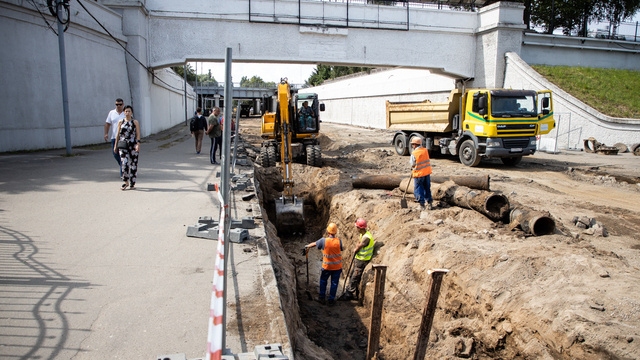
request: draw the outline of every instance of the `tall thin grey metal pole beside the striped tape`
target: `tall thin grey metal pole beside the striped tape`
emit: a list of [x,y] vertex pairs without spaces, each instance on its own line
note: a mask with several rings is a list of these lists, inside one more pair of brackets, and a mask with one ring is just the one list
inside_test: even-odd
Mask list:
[[229,140],[231,139],[231,124],[233,120],[231,120],[231,108],[229,104],[233,103],[233,92],[232,87],[233,83],[231,82],[231,48],[227,48],[227,53],[224,58],[225,65],[225,86],[224,86],[224,118],[226,121],[226,125],[224,127],[224,131],[222,132],[222,165],[220,169],[220,178],[222,185],[222,199],[224,200],[224,204],[229,209],[228,212],[225,212],[225,224],[224,224],[224,291],[223,291],[223,300],[222,302],[225,304],[225,311],[222,313],[222,352],[225,353],[227,349],[227,339],[226,339],[226,329],[227,329],[227,255],[229,254],[229,225],[231,225],[231,217],[229,213],[231,211],[231,206],[229,204],[229,155],[231,153],[231,145]]

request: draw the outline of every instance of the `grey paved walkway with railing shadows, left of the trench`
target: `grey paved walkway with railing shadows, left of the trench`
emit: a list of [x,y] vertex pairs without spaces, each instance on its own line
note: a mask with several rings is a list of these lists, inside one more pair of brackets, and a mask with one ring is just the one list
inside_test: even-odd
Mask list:
[[[218,217],[209,145],[196,155],[184,125],[143,139],[127,191],[108,144],[0,155],[0,358],[205,355],[217,241],[186,229]],[[231,199],[232,218],[253,215]],[[249,232],[230,247],[227,348],[287,349],[264,231]]]

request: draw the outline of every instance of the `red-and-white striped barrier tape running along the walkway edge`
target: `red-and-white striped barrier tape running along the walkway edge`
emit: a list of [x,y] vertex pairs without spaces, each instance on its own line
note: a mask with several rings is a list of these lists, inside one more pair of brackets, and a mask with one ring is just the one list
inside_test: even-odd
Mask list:
[[225,311],[224,296],[224,226],[226,225],[227,205],[223,203],[218,184],[216,184],[218,199],[222,204],[220,222],[218,223],[218,249],[216,251],[215,271],[213,273],[213,291],[211,292],[211,307],[209,310],[209,334],[207,336],[207,360],[222,358],[223,324],[222,316]]

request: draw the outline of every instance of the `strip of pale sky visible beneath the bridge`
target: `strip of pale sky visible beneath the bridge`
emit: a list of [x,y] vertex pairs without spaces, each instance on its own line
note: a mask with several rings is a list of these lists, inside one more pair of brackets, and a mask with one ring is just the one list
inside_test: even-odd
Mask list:
[[[196,63],[192,62],[190,64],[195,69]],[[225,81],[224,62],[199,62],[197,64],[198,74],[207,74],[211,69],[211,75],[216,81]],[[239,83],[243,76],[249,79],[252,76],[259,76],[265,82],[273,81],[279,83],[280,78],[286,77],[289,79],[290,84],[304,84],[315,68],[316,65],[234,62],[231,64],[231,80],[234,83]]]

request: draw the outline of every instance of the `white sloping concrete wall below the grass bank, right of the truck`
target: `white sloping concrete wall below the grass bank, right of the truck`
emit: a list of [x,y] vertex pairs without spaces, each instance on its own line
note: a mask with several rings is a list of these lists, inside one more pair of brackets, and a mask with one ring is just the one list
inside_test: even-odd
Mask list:
[[551,90],[556,129],[543,135],[556,139],[558,149],[583,149],[583,140],[594,137],[612,146],[640,142],[640,119],[613,118],[601,114],[582,101],[547,81],[515,53],[507,53],[505,88]]

